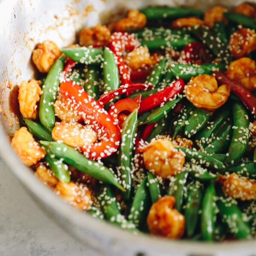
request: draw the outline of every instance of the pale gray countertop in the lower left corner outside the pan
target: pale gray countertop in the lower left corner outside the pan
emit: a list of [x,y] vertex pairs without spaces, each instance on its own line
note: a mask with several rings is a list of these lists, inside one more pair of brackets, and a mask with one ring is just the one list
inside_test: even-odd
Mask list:
[[53,222],[0,159],[0,256],[99,256]]

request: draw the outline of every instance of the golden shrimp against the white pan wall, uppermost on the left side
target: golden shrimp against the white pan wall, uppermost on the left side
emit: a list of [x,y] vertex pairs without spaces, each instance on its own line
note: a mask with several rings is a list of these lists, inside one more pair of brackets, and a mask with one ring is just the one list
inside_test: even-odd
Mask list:
[[32,52],[32,61],[41,73],[48,73],[52,64],[60,57],[61,51],[58,46],[49,40],[38,44],[37,49]]

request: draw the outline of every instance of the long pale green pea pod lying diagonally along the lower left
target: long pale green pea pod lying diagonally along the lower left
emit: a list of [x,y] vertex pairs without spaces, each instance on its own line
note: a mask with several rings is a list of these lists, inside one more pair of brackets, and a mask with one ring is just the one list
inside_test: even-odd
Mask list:
[[76,151],[75,148],[64,143],[40,141],[40,143],[48,148],[50,153],[55,157],[63,158],[64,162],[74,166],[81,172],[96,178],[104,183],[109,183],[117,188],[125,191],[125,189],[118,183],[113,172],[107,167],[100,165],[96,161],[89,160],[83,154]]

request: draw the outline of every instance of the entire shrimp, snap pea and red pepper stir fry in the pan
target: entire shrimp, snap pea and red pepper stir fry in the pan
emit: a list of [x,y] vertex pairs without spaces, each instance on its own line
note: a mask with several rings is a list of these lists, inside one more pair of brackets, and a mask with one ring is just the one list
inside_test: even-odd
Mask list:
[[255,19],[248,4],[148,7],[64,49],[44,41],[13,148],[69,204],[131,232],[255,238]]

